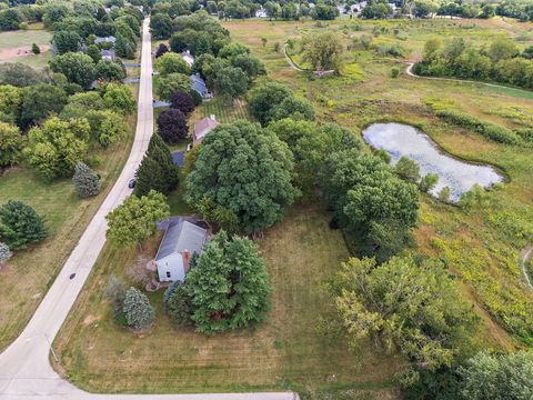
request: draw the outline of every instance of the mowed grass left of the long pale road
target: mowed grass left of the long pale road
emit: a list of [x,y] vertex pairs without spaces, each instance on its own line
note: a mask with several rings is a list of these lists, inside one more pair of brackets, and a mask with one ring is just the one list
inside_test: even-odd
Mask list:
[[[137,88],[132,87],[137,97]],[[0,270],[0,350],[13,341],[33,314],[56,274],[74,248],[98,207],[112,188],[130,152],[135,116],[129,118],[130,134],[118,146],[99,152],[93,168],[102,177],[102,193],[82,200],[70,179],[46,182],[28,168],[13,168],[0,176],[0,204],[22,200],[44,214],[49,237],[19,250]]]

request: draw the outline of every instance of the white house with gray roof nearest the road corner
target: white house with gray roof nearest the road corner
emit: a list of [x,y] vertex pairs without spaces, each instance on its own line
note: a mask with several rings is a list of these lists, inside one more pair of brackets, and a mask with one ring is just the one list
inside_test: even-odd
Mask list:
[[160,282],[183,281],[193,254],[209,241],[208,230],[185,219],[171,221],[155,256]]

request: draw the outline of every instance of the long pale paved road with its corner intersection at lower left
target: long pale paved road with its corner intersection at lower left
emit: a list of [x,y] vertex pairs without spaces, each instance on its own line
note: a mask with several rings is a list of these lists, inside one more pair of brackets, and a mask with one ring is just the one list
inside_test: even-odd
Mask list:
[[[50,343],[66,320],[105,242],[105,216],[131,193],[128,180],[144,154],[153,132],[152,59],[149,21],[143,23],[141,82],[137,131],[130,157],[117,183],[94,214],[76,249],[20,337],[0,354],[0,399],[175,399],[293,400],[294,393],[235,394],[91,394],[61,379],[49,362]],[[76,272],[71,280],[69,276]]]

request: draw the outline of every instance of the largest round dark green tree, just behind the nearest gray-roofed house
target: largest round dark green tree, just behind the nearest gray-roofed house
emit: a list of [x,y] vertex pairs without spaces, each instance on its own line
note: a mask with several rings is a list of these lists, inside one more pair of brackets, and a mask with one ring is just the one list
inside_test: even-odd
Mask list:
[[219,126],[202,141],[187,200],[194,207],[211,199],[251,233],[281,220],[294,202],[293,169],[291,151],[274,133],[242,120]]

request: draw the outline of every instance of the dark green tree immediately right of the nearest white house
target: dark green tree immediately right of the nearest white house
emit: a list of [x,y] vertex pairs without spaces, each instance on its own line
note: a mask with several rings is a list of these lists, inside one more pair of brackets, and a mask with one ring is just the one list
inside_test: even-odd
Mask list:
[[200,332],[217,333],[261,322],[271,287],[258,247],[245,238],[219,232],[187,274],[192,320]]

